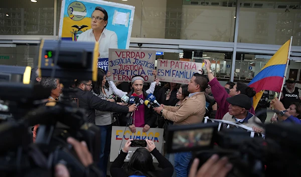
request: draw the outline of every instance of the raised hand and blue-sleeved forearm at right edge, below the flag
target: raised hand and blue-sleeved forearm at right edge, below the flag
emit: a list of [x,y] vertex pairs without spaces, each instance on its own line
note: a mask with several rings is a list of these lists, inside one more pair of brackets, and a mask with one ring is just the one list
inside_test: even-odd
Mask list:
[[290,115],[278,98],[273,99],[270,104],[271,106],[274,106],[275,110],[277,110],[277,116],[279,120],[282,120],[283,122],[301,124],[301,120]]

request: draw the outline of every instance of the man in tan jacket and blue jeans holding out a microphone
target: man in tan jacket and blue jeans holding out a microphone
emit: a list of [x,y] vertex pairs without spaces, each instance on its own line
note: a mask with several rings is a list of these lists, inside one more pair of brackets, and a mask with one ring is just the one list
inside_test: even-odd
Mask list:
[[[174,121],[175,125],[200,123],[206,113],[205,89],[208,86],[208,80],[205,76],[195,73],[188,83],[189,96],[183,100],[180,106],[165,106],[154,108],[165,119]],[[191,152],[175,153],[175,170],[177,177],[188,175]]]

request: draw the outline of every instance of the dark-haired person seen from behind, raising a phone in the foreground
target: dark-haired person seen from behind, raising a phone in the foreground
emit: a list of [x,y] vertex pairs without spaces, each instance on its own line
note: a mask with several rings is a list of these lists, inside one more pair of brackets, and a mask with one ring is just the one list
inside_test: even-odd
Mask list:
[[[127,156],[127,152],[130,148],[131,141],[126,141],[124,147],[120,150],[118,157],[111,165],[110,172],[112,177],[128,177],[131,175],[141,175],[146,177],[171,177],[174,172],[173,165],[157,150],[153,141],[145,139],[147,147],[141,147],[135,150],[131,156],[126,168],[123,168],[124,159]],[[155,170],[153,165],[153,154],[159,164],[161,170]]]

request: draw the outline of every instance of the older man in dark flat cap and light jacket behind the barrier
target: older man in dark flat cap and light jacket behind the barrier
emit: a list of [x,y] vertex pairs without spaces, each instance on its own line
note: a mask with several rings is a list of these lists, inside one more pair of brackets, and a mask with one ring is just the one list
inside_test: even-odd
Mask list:
[[227,102],[230,104],[229,112],[224,115],[223,120],[242,123],[243,125],[253,128],[256,133],[263,131],[263,129],[258,128],[258,125],[255,123],[261,123],[260,119],[249,112],[252,103],[247,95],[238,94],[229,97],[227,98]]

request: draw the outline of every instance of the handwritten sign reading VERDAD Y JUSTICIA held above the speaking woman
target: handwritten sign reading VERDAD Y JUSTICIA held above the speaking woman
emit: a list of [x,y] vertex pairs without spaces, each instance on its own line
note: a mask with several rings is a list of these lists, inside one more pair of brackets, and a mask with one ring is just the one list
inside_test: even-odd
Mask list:
[[109,72],[113,81],[131,81],[141,75],[145,82],[154,82],[156,51],[109,49]]

